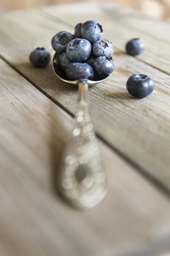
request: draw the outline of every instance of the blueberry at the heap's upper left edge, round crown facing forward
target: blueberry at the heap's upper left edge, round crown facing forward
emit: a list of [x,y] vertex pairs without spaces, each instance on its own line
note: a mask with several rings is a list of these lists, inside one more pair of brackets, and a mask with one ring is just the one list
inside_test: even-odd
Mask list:
[[62,53],[66,51],[68,43],[74,38],[75,36],[70,32],[61,31],[51,39],[51,45],[56,52]]

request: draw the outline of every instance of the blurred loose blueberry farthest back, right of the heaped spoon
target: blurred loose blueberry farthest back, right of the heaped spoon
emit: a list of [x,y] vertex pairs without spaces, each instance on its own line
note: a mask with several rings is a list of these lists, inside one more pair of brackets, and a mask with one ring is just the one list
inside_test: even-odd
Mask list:
[[133,38],[126,44],[126,52],[129,55],[139,55],[144,51],[144,41],[140,38]]

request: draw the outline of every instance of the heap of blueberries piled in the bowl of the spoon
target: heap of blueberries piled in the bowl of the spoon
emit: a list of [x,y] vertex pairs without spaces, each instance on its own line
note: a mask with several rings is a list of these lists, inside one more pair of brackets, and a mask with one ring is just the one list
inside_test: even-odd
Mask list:
[[94,20],[78,23],[74,35],[65,31],[54,35],[51,44],[60,54],[59,66],[68,80],[93,80],[95,76],[100,80],[113,72],[113,45],[102,35],[102,26]]

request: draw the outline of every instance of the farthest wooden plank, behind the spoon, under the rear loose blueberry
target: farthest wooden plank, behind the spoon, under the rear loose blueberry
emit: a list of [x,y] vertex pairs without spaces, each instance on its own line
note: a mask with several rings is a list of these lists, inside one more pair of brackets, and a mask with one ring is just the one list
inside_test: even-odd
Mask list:
[[137,58],[170,74],[170,23],[154,20],[133,9],[107,2],[49,6],[42,9],[72,26],[85,20],[97,20],[103,26],[104,37],[123,51],[130,38],[142,38],[146,49]]

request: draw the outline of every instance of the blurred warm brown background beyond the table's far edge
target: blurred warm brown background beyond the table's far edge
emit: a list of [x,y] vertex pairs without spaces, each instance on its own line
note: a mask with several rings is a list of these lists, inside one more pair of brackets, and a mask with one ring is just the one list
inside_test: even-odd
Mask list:
[[[36,6],[45,6],[61,3],[85,2],[87,0],[0,0],[0,11],[9,11],[13,9],[32,8]],[[89,1],[89,0],[88,0]],[[100,0],[91,0],[100,1]],[[118,3],[121,6],[129,6],[146,15],[170,19],[170,0],[109,0]]]

